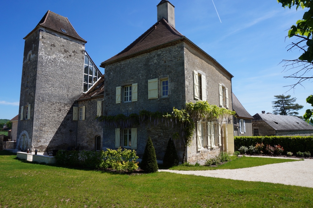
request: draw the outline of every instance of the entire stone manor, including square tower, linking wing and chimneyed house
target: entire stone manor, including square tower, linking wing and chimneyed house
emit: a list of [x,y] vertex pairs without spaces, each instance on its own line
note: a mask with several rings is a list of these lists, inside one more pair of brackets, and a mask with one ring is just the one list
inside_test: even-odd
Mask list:
[[[157,23],[101,63],[105,75],[85,51],[86,41],[61,15],[48,11],[24,39],[16,136],[20,150],[121,146],[141,157],[150,136],[162,160],[178,127],[163,122],[112,126],[96,118],[141,110],[172,112],[198,100],[233,109],[233,75],[175,29],[169,1],[157,5]],[[175,140],[180,159],[182,142]],[[233,119],[199,121],[185,159],[196,163],[233,149]]]

